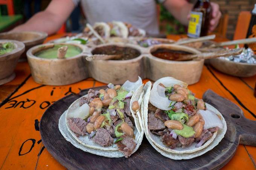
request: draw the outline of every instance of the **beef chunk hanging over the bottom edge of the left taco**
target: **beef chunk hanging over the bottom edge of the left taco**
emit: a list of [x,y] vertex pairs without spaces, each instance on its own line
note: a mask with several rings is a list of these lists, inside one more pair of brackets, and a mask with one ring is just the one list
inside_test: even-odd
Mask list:
[[123,140],[117,142],[118,150],[125,155],[125,158],[128,158],[133,153],[136,143],[134,139],[126,135],[121,136]]

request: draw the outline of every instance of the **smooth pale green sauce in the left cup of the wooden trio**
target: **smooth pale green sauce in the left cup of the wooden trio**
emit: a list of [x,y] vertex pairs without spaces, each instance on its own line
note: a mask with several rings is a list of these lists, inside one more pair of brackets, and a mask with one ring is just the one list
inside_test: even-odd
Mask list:
[[47,48],[36,52],[34,55],[41,58],[57,58],[58,49],[67,46],[66,58],[74,57],[82,52],[82,49],[75,45],[54,45],[52,48]]

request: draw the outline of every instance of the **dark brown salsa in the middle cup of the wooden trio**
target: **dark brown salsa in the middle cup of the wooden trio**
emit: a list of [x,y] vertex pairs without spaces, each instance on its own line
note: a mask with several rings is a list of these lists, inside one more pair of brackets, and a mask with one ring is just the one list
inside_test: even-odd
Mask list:
[[118,60],[130,60],[140,55],[140,52],[137,49],[130,48],[130,47],[120,47],[115,45],[98,47],[98,48],[95,48],[91,53],[93,55],[95,54],[122,55],[122,57]]

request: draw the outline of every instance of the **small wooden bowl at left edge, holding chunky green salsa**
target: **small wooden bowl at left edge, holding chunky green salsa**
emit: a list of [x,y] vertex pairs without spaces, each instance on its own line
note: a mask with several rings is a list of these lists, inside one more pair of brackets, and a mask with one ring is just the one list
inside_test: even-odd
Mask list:
[[9,53],[0,55],[0,85],[6,84],[15,78],[14,69],[20,55],[25,51],[25,45],[15,40],[0,40],[0,43],[12,42],[15,49]]

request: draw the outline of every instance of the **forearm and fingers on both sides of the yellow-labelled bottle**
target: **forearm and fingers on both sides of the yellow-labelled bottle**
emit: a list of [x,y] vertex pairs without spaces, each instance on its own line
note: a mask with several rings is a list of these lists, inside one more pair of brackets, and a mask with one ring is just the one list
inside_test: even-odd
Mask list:
[[[213,31],[221,18],[221,12],[219,10],[219,5],[211,2],[212,7],[212,19],[210,20],[209,31]],[[189,23],[189,15],[192,10],[194,4],[188,3],[186,0],[166,0],[163,5],[166,9],[180,21],[183,25],[188,25]]]

